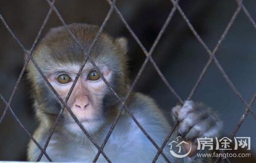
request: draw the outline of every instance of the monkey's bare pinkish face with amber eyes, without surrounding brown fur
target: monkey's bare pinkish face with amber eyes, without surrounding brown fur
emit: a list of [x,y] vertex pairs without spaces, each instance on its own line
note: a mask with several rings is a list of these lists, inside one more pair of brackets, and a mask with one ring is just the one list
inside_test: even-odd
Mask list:
[[[67,68],[68,67],[68,68]],[[105,65],[98,65],[104,78],[111,82],[112,71]],[[56,72],[47,76],[49,82],[65,101],[80,66],[59,65]],[[93,132],[104,122],[103,99],[108,93],[106,84],[92,64],[86,64],[67,106],[76,115],[86,130]],[[80,130],[67,109],[64,110],[65,126],[69,130]]]

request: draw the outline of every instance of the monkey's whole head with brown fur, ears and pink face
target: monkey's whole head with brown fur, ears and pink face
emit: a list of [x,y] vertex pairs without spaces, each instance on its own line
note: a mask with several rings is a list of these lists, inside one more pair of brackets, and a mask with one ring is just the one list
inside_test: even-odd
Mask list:
[[[99,30],[97,26],[86,24],[71,24],[68,28],[86,52]],[[101,33],[90,53],[104,78],[121,97],[125,95],[129,82],[126,77],[126,46],[126,39],[113,39]],[[65,101],[79,68],[87,58],[81,47],[65,27],[53,28],[39,43],[33,57],[53,88]],[[31,61],[27,71],[33,87],[36,115],[41,122],[50,126],[63,105]],[[116,111],[117,104],[118,100],[88,60],[67,106],[87,131],[94,132],[109,118],[109,114]],[[67,109],[64,110],[60,125],[71,132],[81,131]]]

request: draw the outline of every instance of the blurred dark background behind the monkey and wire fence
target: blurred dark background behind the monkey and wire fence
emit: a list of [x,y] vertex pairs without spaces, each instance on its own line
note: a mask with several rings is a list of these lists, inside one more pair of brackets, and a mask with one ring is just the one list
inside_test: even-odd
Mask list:
[[[117,1],[117,7],[135,34],[149,51],[173,5],[168,0]],[[213,50],[231,19],[237,4],[234,0],[206,1],[181,0],[180,7],[195,30]],[[256,20],[256,2],[244,1],[252,18]],[[65,22],[82,22],[100,26],[109,4],[106,1],[57,1],[56,7]],[[0,1],[0,13],[15,35],[30,49],[45,19],[49,6],[44,0]],[[43,35],[52,27],[61,26],[53,12]],[[114,37],[124,36],[129,40],[130,77],[138,73],[145,59],[142,50],[114,12],[105,32]],[[226,39],[216,53],[227,75],[247,102],[256,91],[256,31],[243,11],[239,13]],[[199,74],[209,59],[203,46],[196,40],[179,12],[175,12],[166,32],[152,55],[163,75],[182,100],[186,100]],[[0,94],[8,101],[15,82],[24,64],[24,53],[7,29],[0,23]],[[136,91],[153,97],[164,110],[170,111],[178,101],[164,85],[149,62],[136,85]],[[12,109],[25,127],[33,133],[38,123],[34,119],[29,98],[30,87],[25,77],[17,88]],[[192,100],[204,102],[220,113],[224,121],[224,135],[229,136],[240,120],[245,106],[230,89],[222,74],[212,62],[208,72],[195,91]],[[0,115],[5,105],[0,101]],[[253,110],[256,112],[255,105]],[[255,119],[249,113],[236,136],[251,137],[251,153],[256,151]],[[28,135],[19,127],[8,112],[0,124],[0,160],[26,160]]]

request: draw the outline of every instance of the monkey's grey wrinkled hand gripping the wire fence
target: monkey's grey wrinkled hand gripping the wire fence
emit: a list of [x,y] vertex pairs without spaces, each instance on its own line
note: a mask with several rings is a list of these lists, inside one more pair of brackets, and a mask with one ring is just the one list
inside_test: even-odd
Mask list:
[[[178,123],[177,134],[192,142],[190,157],[195,155],[197,138],[214,138],[221,134],[222,121],[210,108],[193,101],[185,101],[183,106],[172,109],[173,119]],[[187,151],[185,147],[185,151]]]

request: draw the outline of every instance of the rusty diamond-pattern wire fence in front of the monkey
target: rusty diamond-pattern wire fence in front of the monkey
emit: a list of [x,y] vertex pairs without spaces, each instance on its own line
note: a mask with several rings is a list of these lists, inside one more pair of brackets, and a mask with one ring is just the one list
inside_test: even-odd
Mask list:
[[[215,65],[217,66],[217,68],[220,70],[221,74],[223,75],[224,79],[226,80],[226,82],[228,83],[228,85],[230,86],[230,88],[232,89],[232,91],[234,92],[234,94],[236,94],[237,97],[239,97],[239,99],[242,101],[242,103],[245,105],[246,109],[245,109],[245,112],[242,114],[242,117],[239,121],[239,123],[237,123],[235,129],[233,130],[233,132],[231,133],[230,137],[233,138],[234,135],[236,134],[236,132],[239,130],[240,126],[242,125],[242,123],[245,121],[246,119],[246,116],[248,114],[248,112],[251,112],[251,114],[254,116],[254,118],[256,119],[256,115],[255,113],[252,111],[251,109],[251,106],[252,104],[254,103],[255,99],[256,99],[256,93],[253,95],[253,97],[251,98],[249,104],[247,104],[247,102],[244,100],[244,98],[242,97],[242,95],[240,94],[240,92],[236,89],[236,87],[233,85],[233,83],[231,82],[231,80],[229,79],[228,75],[226,74],[226,72],[224,71],[224,69],[222,68],[221,64],[218,62],[217,58],[215,57],[215,53],[216,51],[218,50],[218,48],[220,47],[222,41],[225,39],[227,33],[229,32],[229,29],[230,27],[233,25],[233,22],[235,20],[235,18],[237,17],[237,15],[240,13],[241,9],[244,11],[244,13],[246,14],[246,16],[248,17],[249,21],[251,22],[251,24],[253,25],[253,27],[256,29],[256,24],[255,24],[255,21],[253,20],[253,18],[251,17],[250,13],[248,12],[248,10],[246,9],[246,7],[243,5],[243,0],[236,0],[236,3],[237,3],[237,9],[235,10],[234,14],[232,15],[230,21],[228,22],[228,25],[226,27],[226,29],[224,30],[224,33],[222,34],[221,38],[218,40],[215,48],[213,51],[210,51],[210,49],[208,48],[208,46],[205,44],[205,42],[203,41],[203,39],[198,35],[198,33],[196,32],[196,30],[194,29],[194,27],[192,26],[191,22],[189,21],[189,19],[187,18],[187,16],[185,15],[185,13],[182,11],[182,9],[179,7],[178,5],[178,2],[179,0],[177,1],[174,1],[174,0],[170,0],[171,3],[173,4],[173,8],[171,9],[166,21],[164,22],[164,25],[163,27],[161,28],[161,30],[159,31],[158,33],[158,36],[157,38],[155,39],[150,51],[148,52],[145,47],[143,46],[143,44],[141,43],[141,41],[139,40],[139,38],[136,36],[136,34],[133,32],[133,30],[131,29],[131,27],[129,26],[129,24],[127,24],[126,20],[124,19],[124,17],[122,16],[121,12],[118,10],[118,8],[115,6],[115,2],[116,0],[106,0],[109,5],[110,5],[110,9],[104,19],[104,21],[102,22],[102,25],[101,27],[99,28],[99,31],[98,33],[96,34],[94,40],[93,40],[93,43],[89,46],[89,49],[88,51],[85,51],[83,46],[80,44],[80,42],[77,40],[77,38],[75,37],[75,35],[68,29],[64,19],[62,18],[62,16],[60,15],[60,13],[58,12],[57,8],[54,6],[54,2],[55,0],[53,0],[52,2],[50,2],[49,0],[45,0],[48,5],[50,6],[50,9],[46,15],[46,18],[38,32],[38,35],[36,36],[33,44],[32,44],[32,47],[31,49],[28,51],[25,46],[20,42],[20,40],[15,36],[15,34],[12,32],[12,30],[9,28],[7,22],[5,21],[4,17],[2,16],[2,14],[0,14],[0,19],[1,21],[3,22],[4,26],[7,28],[8,32],[12,35],[12,37],[15,39],[15,41],[17,42],[17,44],[19,44],[22,48],[22,50],[24,51],[25,55],[27,55],[27,59],[25,61],[25,64],[23,65],[23,68],[22,68],[22,71],[19,75],[19,78],[17,79],[16,81],[16,84],[12,90],[12,93],[11,93],[11,96],[8,100],[8,102],[4,99],[4,97],[0,94],[0,98],[2,99],[2,101],[5,103],[6,105],[6,108],[4,109],[4,112],[3,114],[1,115],[0,117],[0,124],[2,123],[3,119],[5,118],[5,115],[8,111],[8,109],[11,111],[14,119],[19,123],[19,125],[21,126],[21,128],[29,135],[30,139],[32,139],[32,141],[36,144],[36,146],[39,147],[39,149],[41,150],[41,153],[40,155],[38,156],[38,159],[37,161],[40,161],[42,156],[45,155],[46,158],[49,160],[49,161],[53,161],[50,159],[50,157],[47,155],[46,153],[46,149],[47,149],[47,146],[50,142],[50,139],[51,139],[51,136],[54,132],[54,130],[56,129],[57,125],[58,125],[58,122],[60,121],[61,119],[61,115],[64,111],[64,109],[66,108],[68,110],[68,112],[70,113],[71,117],[74,118],[75,122],[79,125],[79,127],[81,128],[81,130],[84,132],[84,134],[90,139],[90,141],[95,145],[95,147],[98,149],[98,153],[96,154],[95,156],[95,159],[93,160],[93,162],[96,162],[99,155],[102,154],[105,159],[108,161],[108,162],[111,162],[111,160],[106,156],[106,154],[103,152],[103,149],[104,149],[104,146],[105,144],[107,143],[108,141],[108,138],[111,136],[111,133],[112,131],[114,130],[119,118],[120,118],[120,115],[122,113],[123,110],[127,111],[127,113],[129,113],[129,115],[131,116],[131,118],[133,119],[133,121],[136,123],[136,125],[140,128],[140,130],[145,134],[145,136],[148,137],[148,139],[150,140],[150,142],[156,147],[157,149],[157,153],[153,159],[153,162],[156,162],[156,160],[158,159],[159,155],[161,154],[163,156],[164,159],[166,159],[167,162],[170,162],[170,160],[166,157],[166,155],[164,155],[164,153],[162,152],[164,146],[166,146],[169,138],[171,137],[171,135],[173,134],[177,124],[175,124],[173,126],[173,128],[171,129],[170,133],[167,135],[166,139],[164,139],[163,141],[163,144],[161,145],[161,147],[159,147],[155,141],[152,139],[152,137],[143,129],[143,127],[139,124],[139,122],[136,120],[136,118],[134,117],[134,115],[132,114],[131,111],[129,111],[129,108],[127,108],[126,106],[126,101],[127,99],[129,99],[130,95],[131,95],[131,92],[135,86],[135,84],[137,83],[138,79],[140,78],[142,72],[144,71],[144,68],[145,66],[147,65],[147,63],[150,61],[154,68],[156,69],[158,75],[160,76],[160,78],[162,79],[162,81],[164,82],[164,84],[166,84],[166,86],[169,88],[169,90],[172,92],[172,94],[177,98],[178,102],[180,102],[181,104],[183,103],[183,101],[181,100],[181,98],[178,96],[178,94],[176,93],[176,91],[173,89],[173,87],[171,86],[171,84],[167,81],[167,79],[164,77],[164,75],[161,73],[159,67],[157,66],[157,64],[155,63],[155,61],[153,60],[153,58],[151,57],[152,56],[152,53],[154,52],[155,48],[156,48],[156,45],[158,44],[161,36],[163,35],[164,31],[166,30],[166,28],[168,27],[169,25],[169,22],[172,18],[172,16],[174,15],[174,13],[176,12],[176,10],[178,10],[178,12],[180,13],[180,15],[182,16],[182,18],[184,18],[184,20],[186,21],[188,27],[190,28],[190,30],[192,31],[192,33],[195,35],[196,39],[200,42],[200,44],[202,44],[202,46],[204,47],[204,49],[206,50],[206,52],[209,54],[210,58],[209,60],[207,61],[207,64],[205,65],[205,67],[203,68],[203,71],[202,73],[200,73],[194,87],[192,88],[189,96],[188,96],[188,99],[191,99],[194,92],[196,91],[198,85],[200,84],[200,81],[202,81],[205,73],[207,72],[207,69],[209,67],[209,65],[211,64],[212,61],[214,61]],[[41,71],[40,67],[38,66],[38,64],[35,62],[35,60],[33,59],[33,51],[35,49],[35,46],[36,44],[38,43],[38,40],[39,38],[41,37],[41,33],[42,33],[42,30],[44,29],[48,19],[49,19],[49,16],[50,14],[52,13],[52,11],[54,11],[57,16],[59,17],[59,19],[61,20],[63,26],[66,27],[66,29],[68,30],[69,34],[70,34],[70,37],[72,37],[75,42],[80,46],[80,48],[82,49],[84,55],[86,56],[86,59],[84,61],[84,63],[82,64],[82,66],[80,67],[80,70],[74,80],[74,83],[72,84],[69,92],[68,92],[68,95],[67,97],[65,98],[65,101],[60,97],[60,95],[57,93],[57,91],[52,87],[52,85],[49,83],[49,81],[47,80],[47,78],[45,77],[45,75],[43,74],[43,72]],[[90,56],[90,52],[92,51],[99,35],[101,34],[101,32],[103,31],[104,27],[106,26],[106,23],[109,19],[109,17],[111,17],[112,13],[113,12],[116,12],[118,14],[118,16],[120,17],[120,19],[122,20],[123,24],[125,25],[125,27],[127,28],[127,30],[129,30],[129,32],[131,33],[131,35],[133,36],[133,38],[136,40],[136,42],[138,43],[138,45],[140,46],[140,48],[142,49],[143,53],[145,54],[146,56],[146,59],[144,60],[143,64],[141,65],[140,67],[140,70],[134,80],[134,82],[132,83],[130,89],[128,90],[128,93],[127,95],[125,96],[124,100],[122,100],[119,95],[115,92],[115,90],[111,87],[111,85],[106,81],[106,79],[103,77],[102,73],[99,71],[98,67],[96,66],[95,62],[93,61],[92,57]],[[12,108],[11,108],[11,102],[13,100],[13,97],[15,95],[15,92],[16,92],[16,89],[17,89],[17,86],[19,86],[20,84],[20,81],[23,77],[23,74],[25,72],[25,69],[28,65],[28,62],[29,61],[32,61],[33,64],[35,65],[36,69],[38,69],[39,73],[41,74],[41,76],[43,77],[43,79],[45,80],[46,84],[50,87],[50,89],[53,91],[54,95],[56,95],[56,97],[58,98],[58,100],[63,104],[63,108],[61,109],[61,111],[59,112],[58,114],[58,117],[57,117],[57,120],[56,122],[54,123],[54,125],[52,126],[51,130],[50,130],[50,133],[48,135],[48,138],[47,138],[47,141],[44,145],[44,147],[42,148],[40,146],[40,144],[38,142],[36,142],[36,140],[33,138],[33,136],[28,132],[28,130],[25,128],[25,126],[21,123],[21,121],[19,120],[19,118],[17,118],[16,114],[13,112]],[[114,123],[112,124],[111,128],[109,129],[103,143],[101,146],[99,146],[95,141],[94,141],[94,138],[92,136],[89,135],[89,133],[83,128],[83,126],[81,125],[81,123],[78,121],[78,119],[76,118],[76,116],[74,115],[74,113],[72,113],[72,111],[70,110],[70,108],[67,106],[67,101],[72,93],[72,90],[74,89],[76,83],[77,83],[77,80],[79,78],[79,76],[81,75],[81,72],[82,72],[82,69],[84,67],[84,65],[86,64],[87,61],[90,61],[93,66],[99,71],[99,74],[101,76],[101,78],[103,79],[103,81],[105,82],[105,84],[109,87],[109,89],[111,89],[111,91],[113,92],[113,94],[116,96],[116,98],[120,101],[121,103],[121,107],[120,107],[120,112],[118,113]]]

